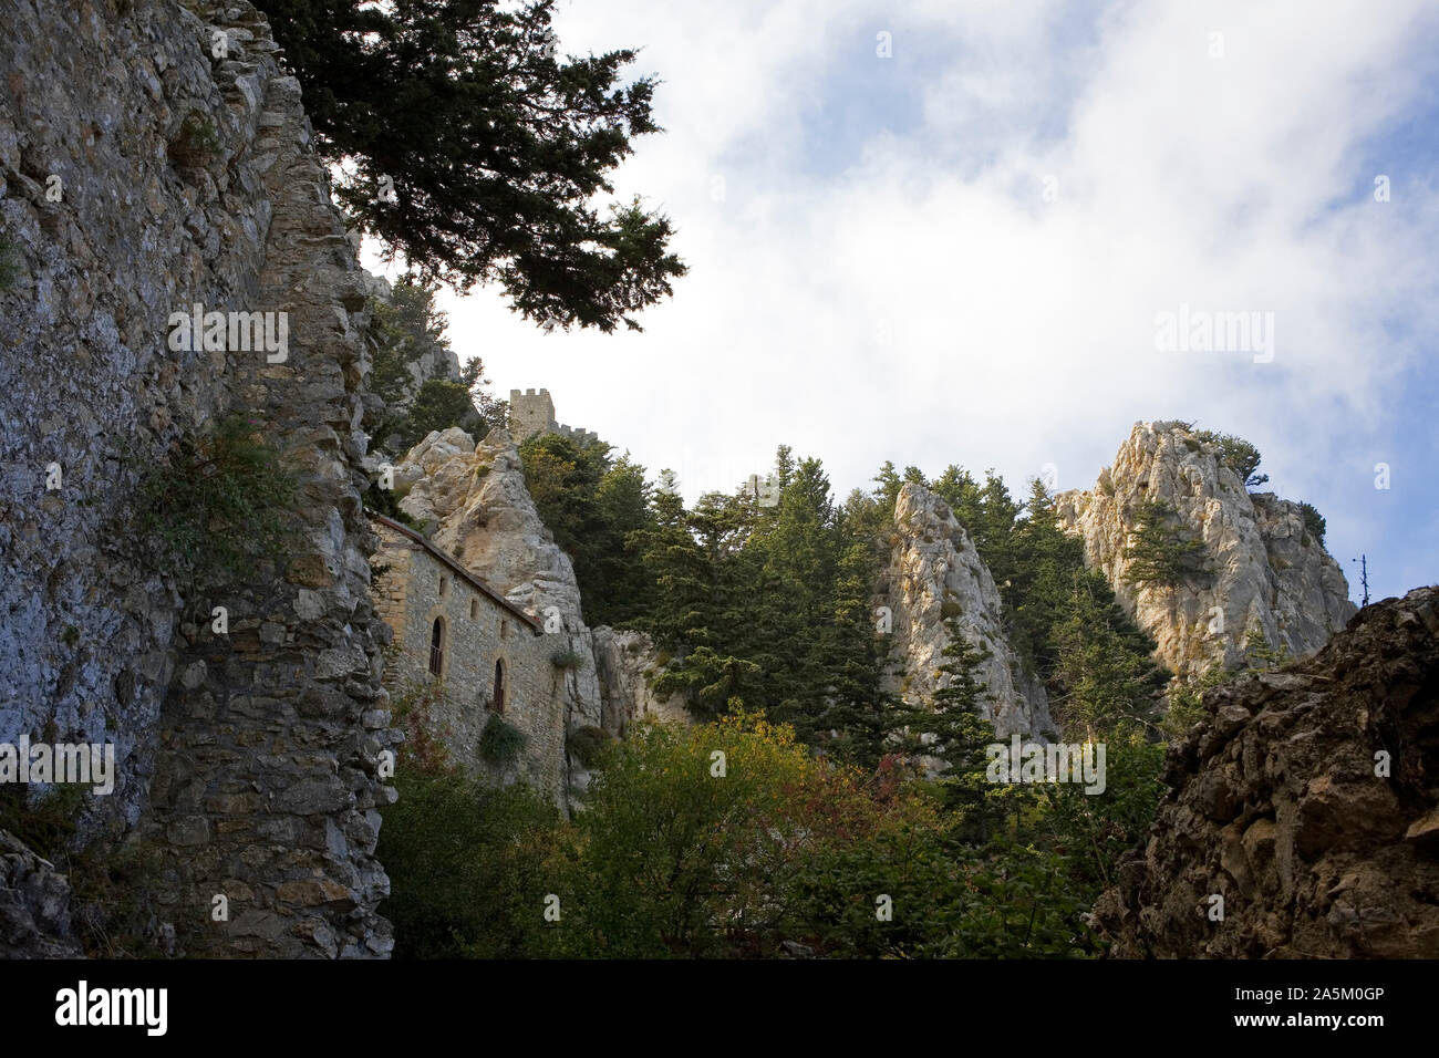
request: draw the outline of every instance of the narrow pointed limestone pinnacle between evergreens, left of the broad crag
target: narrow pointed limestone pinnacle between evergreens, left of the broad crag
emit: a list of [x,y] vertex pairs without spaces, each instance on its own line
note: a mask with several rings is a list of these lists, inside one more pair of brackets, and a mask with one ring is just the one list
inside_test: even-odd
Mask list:
[[891,689],[905,701],[924,701],[944,687],[947,613],[958,615],[970,641],[989,656],[980,665],[990,698],[984,713],[1000,736],[1042,736],[1053,730],[1049,700],[1027,677],[1004,638],[994,579],[950,507],[928,489],[907,484],[895,502],[889,564],[878,584],[878,603],[892,615],[891,658],[902,675]]

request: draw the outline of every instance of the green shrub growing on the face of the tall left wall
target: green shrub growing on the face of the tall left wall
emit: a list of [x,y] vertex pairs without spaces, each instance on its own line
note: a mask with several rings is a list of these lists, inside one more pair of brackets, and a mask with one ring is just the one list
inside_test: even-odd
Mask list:
[[140,481],[137,531],[151,559],[191,592],[220,589],[282,561],[299,482],[255,426],[227,416],[183,438]]

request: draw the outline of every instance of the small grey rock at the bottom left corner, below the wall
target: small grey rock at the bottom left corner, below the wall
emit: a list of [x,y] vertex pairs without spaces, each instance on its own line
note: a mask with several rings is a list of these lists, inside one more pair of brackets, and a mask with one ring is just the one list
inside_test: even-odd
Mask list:
[[81,959],[71,928],[71,884],[9,831],[0,831],[0,959]]

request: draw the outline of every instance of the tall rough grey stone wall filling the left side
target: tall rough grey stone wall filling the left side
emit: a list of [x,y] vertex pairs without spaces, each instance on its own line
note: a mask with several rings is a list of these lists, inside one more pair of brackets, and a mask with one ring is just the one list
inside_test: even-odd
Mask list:
[[[115,743],[117,790],[82,836],[155,846],[180,950],[383,956],[367,291],[299,83],[246,0],[4,12],[0,740]],[[285,357],[171,343],[197,304],[285,314]],[[132,491],[230,412],[296,471],[295,546],[184,618],[174,571],[130,546]]]

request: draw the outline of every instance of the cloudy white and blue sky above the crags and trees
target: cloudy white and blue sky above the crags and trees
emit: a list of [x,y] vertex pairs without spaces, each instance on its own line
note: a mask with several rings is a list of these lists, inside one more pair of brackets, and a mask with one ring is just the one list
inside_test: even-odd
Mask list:
[[[498,396],[548,389],[689,499],[780,443],[839,499],[886,459],[1092,488],[1135,422],[1193,420],[1320,510],[1356,602],[1360,554],[1374,599],[1439,582],[1439,4],[560,0],[555,29],[662,82],[613,180],[689,273],[640,334],[445,294]],[[1243,348],[1161,340],[1233,312]]]

